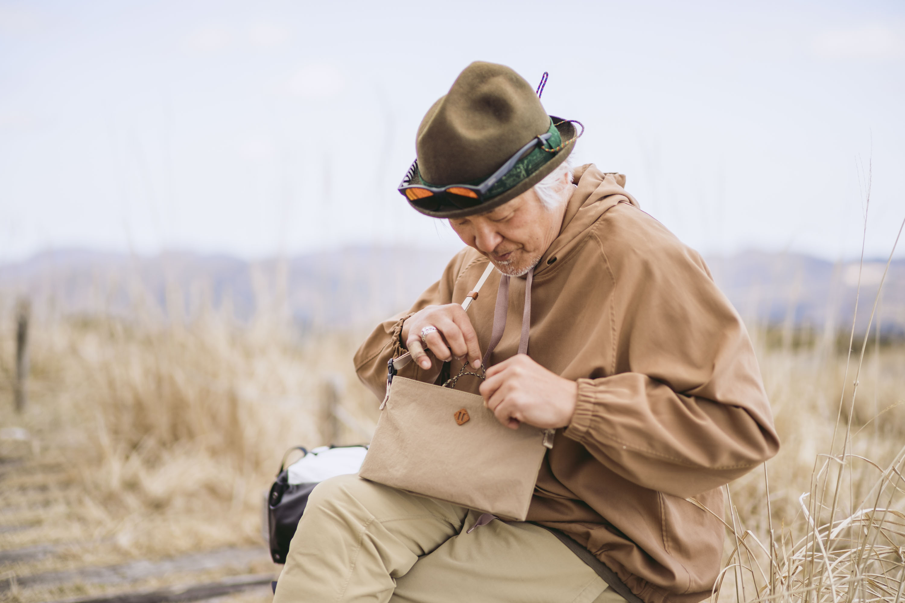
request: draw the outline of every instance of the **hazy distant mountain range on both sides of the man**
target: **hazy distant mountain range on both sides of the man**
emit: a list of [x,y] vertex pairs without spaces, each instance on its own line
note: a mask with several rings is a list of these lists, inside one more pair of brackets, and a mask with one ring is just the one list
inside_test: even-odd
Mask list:
[[[359,247],[249,262],[192,252],[140,257],[55,250],[0,265],[0,309],[8,312],[14,299],[27,296],[39,315],[187,320],[213,310],[240,322],[291,318],[305,330],[360,327],[407,308],[440,278],[451,255]],[[749,324],[819,330],[852,324],[857,262],[746,252],[708,263]],[[869,261],[860,270],[861,331],[884,268]],[[892,262],[877,316],[884,333],[905,334],[905,260]]]

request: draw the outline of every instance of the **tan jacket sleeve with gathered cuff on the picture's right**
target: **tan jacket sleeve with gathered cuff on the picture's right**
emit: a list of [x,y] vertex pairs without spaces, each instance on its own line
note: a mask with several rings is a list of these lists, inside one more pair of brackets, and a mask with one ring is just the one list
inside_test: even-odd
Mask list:
[[703,260],[683,246],[615,255],[605,258],[613,370],[578,380],[566,436],[635,484],[681,497],[776,455],[748,332]]

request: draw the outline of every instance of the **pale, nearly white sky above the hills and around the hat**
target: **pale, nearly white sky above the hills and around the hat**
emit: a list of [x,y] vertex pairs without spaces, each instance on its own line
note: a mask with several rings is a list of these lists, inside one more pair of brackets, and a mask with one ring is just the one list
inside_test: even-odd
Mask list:
[[475,60],[705,254],[856,257],[862,167],[869,256],[905,217],[900,1],[0,1],[0,262],[458,247],[395,186]]

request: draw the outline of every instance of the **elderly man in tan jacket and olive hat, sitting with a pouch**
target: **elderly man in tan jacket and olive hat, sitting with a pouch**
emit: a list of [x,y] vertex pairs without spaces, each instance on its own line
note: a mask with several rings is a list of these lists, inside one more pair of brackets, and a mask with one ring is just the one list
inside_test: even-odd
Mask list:
[[[457,387],[512,429],[556,429],[528,521],[471,530],[480,513],[333,478],[311,495],[276,601],[623,600],[545,526],[603,561],[628,598],[710,595],[719,488],[779,446],[757,360],[700,255],[639,209],[624,176],[571,166],[577,136],[509,68],[462,71],[424,117],[400,191],[468,247],[355,357],[381,398],[387,361],[406,351],[410,379],[478,369],[495,300],[460,304],[488,262],[485,290],[507,275],[516,326],[486,380]],[[517,353],[526,286],[528,354]]]

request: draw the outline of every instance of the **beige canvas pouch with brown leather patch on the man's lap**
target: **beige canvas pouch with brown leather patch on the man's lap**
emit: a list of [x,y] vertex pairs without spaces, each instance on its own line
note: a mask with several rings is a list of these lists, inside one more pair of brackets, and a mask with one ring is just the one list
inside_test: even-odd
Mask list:
[[[491,264],[465,298],[464,309],[492,270]],[[519,353],[528,353],[532,276],[533,270],[525,283]],[[482,367],[506,327],[509,283],[507,276],[500,279],[491,344]],[[389,363],[380,419],[358,475],[501,519],[524,521],[554,430],[526,424],[506,428],[484,407],[481,396],[452,389],[462,375],[475,374],[466,372],[467,365],[444,383],[448,387],[395,377],[410,360],[406,353]]]

